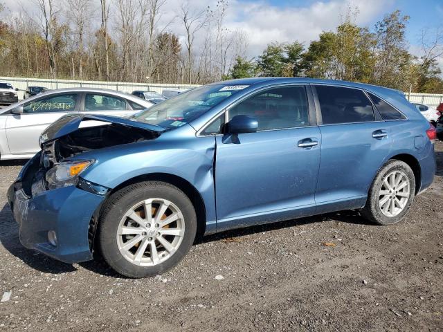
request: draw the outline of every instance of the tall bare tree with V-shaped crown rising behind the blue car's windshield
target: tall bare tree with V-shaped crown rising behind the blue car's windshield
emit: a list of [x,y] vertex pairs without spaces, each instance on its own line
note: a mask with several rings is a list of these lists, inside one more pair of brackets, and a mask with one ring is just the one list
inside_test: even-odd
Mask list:
[[193,64],[193,48],[195,37],[201,28],[204,28],[208,21],[206,10],[191,10],[189,3],[181,6],[180,20],[186,30],[185,46],[187,50],[187,69],[188,69],[188,83],[192,84],[192,64]]

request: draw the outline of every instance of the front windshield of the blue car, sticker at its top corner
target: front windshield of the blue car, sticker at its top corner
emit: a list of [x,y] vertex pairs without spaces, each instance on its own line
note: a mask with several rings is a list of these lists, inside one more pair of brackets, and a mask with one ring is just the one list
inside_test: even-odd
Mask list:
[[200,86],[155,104],[137,113],[134,119],[170,129],[181,127],[246,87],[221,84]]

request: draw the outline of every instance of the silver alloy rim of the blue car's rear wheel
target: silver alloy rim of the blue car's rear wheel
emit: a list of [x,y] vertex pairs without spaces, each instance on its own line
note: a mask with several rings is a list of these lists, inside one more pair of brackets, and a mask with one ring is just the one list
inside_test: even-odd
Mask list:
[[379,191],[379,208],[385,216],[393,217],[400,214],[410,196],[408,176],[401,171],[392,171],[383,178]]

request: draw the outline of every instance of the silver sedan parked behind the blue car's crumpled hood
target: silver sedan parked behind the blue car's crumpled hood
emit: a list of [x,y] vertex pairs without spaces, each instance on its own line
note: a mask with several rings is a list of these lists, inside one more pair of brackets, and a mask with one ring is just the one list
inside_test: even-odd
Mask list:
[[39,136],[68,113],[132,116],[152,102],[118,91],[90,88],[51,90],[0,109],[0,160],[30,158]]

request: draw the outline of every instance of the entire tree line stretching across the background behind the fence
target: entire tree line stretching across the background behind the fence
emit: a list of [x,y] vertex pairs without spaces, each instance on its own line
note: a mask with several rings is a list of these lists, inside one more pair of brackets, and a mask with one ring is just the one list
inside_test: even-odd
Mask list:
[[183,2],[167,23],[168,0],[33,1],[33,12],[0,20],[0,75],[189,84],[316,77],[443,93],[443,33],[424,31],[421,55],[411,54],[409,17],[399,10],[368,28],[348,8],[342,24],[308,45],[273,42],[248,58],[248,36],[226,24],[227,0],[213,8]]

